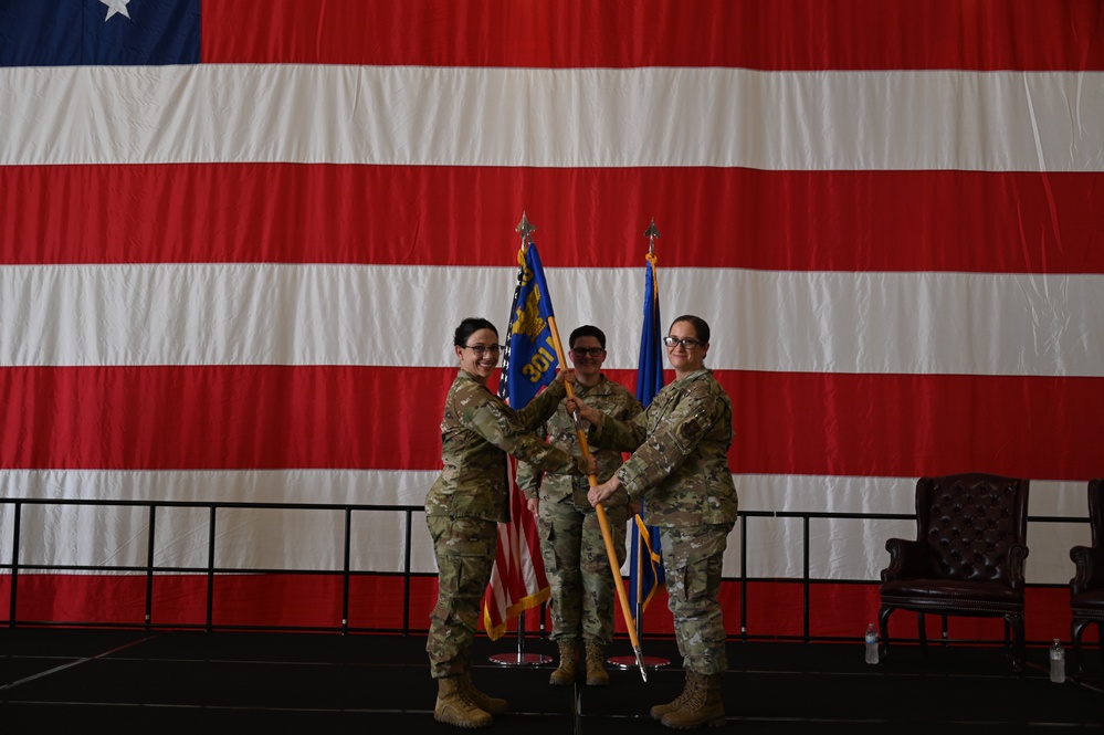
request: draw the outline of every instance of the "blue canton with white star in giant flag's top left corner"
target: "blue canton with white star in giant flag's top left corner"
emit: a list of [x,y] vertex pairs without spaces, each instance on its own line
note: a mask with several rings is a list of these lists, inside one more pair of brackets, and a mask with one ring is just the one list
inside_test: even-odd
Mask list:
[[0,66],[200,61],[200,0],[0,2]]

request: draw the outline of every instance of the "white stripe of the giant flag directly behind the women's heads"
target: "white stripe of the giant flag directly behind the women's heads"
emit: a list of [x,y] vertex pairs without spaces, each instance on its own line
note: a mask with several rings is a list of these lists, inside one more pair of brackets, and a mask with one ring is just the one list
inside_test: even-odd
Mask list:
[[[557,315],[566,325],[618,314],[642,288],[639,269],[545,272],[572,296]],[[1104,376],[1102,275],[672,267],[663,277],[666,303],[711,322],[716,369]],[[0,365],[444,367],[455,325],[439,315],[493,322],[508,312],[512,281],[508,267],[0,266],[0,292],[18,305],[0,314]],[[419,328],[386,328],[400,312]],[[606,329],[607,367],[635,368],[637,322]]]

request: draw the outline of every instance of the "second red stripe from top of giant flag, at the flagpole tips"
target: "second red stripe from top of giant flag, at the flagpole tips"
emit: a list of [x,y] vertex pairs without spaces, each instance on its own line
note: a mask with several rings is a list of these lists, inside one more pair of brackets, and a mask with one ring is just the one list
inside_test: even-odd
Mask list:
[[616,244],[557,267],[638,267],[654,217],[664,267],[1104,273],[1104,172],[700,167],[3,166],[0,262],[502,265],[533,201],[554,242]]

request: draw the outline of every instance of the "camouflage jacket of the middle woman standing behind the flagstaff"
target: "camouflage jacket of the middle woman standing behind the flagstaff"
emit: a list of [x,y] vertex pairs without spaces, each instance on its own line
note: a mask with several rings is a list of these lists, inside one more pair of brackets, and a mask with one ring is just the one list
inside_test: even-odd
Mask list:
[[[619,382],[610,380],[604,375],[593,386],[575,384],[575,395],[587,401],[602,413],[614,419],[628,421],[644,408],[637,400],[637,397],[629,392],[629,389]],[[548,421],[537,431],[538,437],[547,437],[548,442],[558,447],[568,454],[580,454],[579,435],[575,431],[575,422],[567,413],[567,407],[560,403]],[[612,449],[593,448],[591,454],[598,463],[598,481],[606,482],[613,475],[613,471],[621,466],[624,458],[621,452]],[[517,464],[517,486],[528,498],[537,497],[537,486],[540,487],[540,501],[545,503],[560,503],[568,498],[575,500],[575,504],[588,510],[590,502],[587,501],[587,491],[590,483],[586,477],[545,473],[540,476],[540,471],[533,465],[519,462]],[[625,498],[621,498],[628,502]],[[617,504],[617,501],[613,501]]]

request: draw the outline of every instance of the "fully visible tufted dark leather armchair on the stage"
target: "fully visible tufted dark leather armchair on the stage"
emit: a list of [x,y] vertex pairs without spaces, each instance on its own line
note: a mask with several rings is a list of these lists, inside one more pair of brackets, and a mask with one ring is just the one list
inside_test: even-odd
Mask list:
[[[879,628],[889,653],[890,616],[917,613],[927,652],[926,613],[999,617],[1011,658],[1023,670],[1023,567],[1028,556],[1030,481],[981,472],[921,477],[916,482],[916,538],[885,543]],[[946,626],[944,626],[946,631]],[[944,632],[946,634],[946,632]]]

